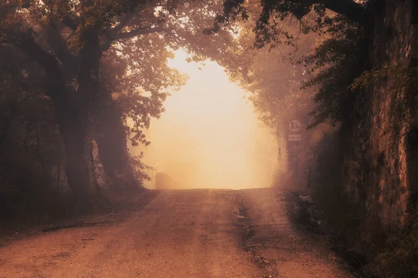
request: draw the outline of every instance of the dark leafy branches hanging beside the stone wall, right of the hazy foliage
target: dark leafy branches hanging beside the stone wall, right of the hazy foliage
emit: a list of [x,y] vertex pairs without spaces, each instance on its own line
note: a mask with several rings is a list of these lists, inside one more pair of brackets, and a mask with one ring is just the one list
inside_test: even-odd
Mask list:
[[361,28],[344,17],[335,17],[323,32],[327,38],[300,60],[313,75],[303,88],[318,88],[314,96],[316,108],[311,112],[315,120],[309,128],[326,121],[335,125],[350,112],[350,85],[363,67]]

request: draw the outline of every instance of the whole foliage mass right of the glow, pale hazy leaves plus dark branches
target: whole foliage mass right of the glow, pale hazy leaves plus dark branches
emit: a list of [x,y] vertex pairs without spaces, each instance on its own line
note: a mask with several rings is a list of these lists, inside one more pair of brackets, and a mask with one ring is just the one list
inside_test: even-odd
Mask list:
[[343,15],[325,13],[320,4],[263,1],[261,6],[261,16],[248,14],[249,22],[256,25],[251,37],[255,47],[254,41],[248,45],[247,31],[242,32],[239,41],[247,48],[235,55],[242,56],[246,65],[240,63],[232,72],[233,80],[252,92],[249,99],[270,126],[292,110],[304,115],[307,108],[314,116],[309,128],[323,122],[337,124],[350,111],[349,87],[363,70],[362,27]]

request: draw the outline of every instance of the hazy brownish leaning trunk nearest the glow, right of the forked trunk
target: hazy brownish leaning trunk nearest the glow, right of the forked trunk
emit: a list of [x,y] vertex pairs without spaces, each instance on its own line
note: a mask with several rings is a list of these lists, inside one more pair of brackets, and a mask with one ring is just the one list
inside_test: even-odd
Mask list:
[[127,149],[127,135],[122,111],[108,92],[100,95],[95,117],[95,140],[104,172],[116,188],[139,188]]

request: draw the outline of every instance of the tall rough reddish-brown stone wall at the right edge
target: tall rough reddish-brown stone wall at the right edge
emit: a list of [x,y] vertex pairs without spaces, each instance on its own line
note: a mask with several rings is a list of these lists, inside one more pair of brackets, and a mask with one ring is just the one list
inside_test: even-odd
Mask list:
[[343,123],[343,186],[382,224],[408,219],[417,202],[416,90],[404,90],[394,68],[408,67],[418,54],[415,1],[373,1],[370,65],[387,69]]

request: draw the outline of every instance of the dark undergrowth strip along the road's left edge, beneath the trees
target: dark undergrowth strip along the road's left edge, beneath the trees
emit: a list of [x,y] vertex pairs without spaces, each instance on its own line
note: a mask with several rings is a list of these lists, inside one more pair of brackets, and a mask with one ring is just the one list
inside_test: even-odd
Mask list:
[[[31,206],[38,206],[28,213],[27,207],[15,210],[0,219],[0,244],[28,234],[55,231],[70,227],[82,227],[91,223],[82,220],[91,215],[123,213],[130,209],[141,209],[158,194],[155,190],[136,188],[131,190],[102,190],[93,204],[80,211],[70,195],[54,198],[31,198]],[[52,200],[54,202],[52,202]],[[29,210],[30,211],[30,210]]]

